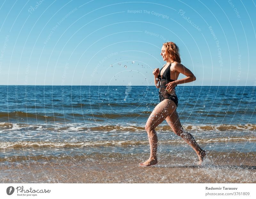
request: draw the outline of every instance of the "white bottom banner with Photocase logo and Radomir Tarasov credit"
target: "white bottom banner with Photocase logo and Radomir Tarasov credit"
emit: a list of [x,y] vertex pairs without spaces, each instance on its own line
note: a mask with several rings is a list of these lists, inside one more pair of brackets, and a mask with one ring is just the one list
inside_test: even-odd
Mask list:
[[256,198],[255,184],[0,184],[0,198]]

